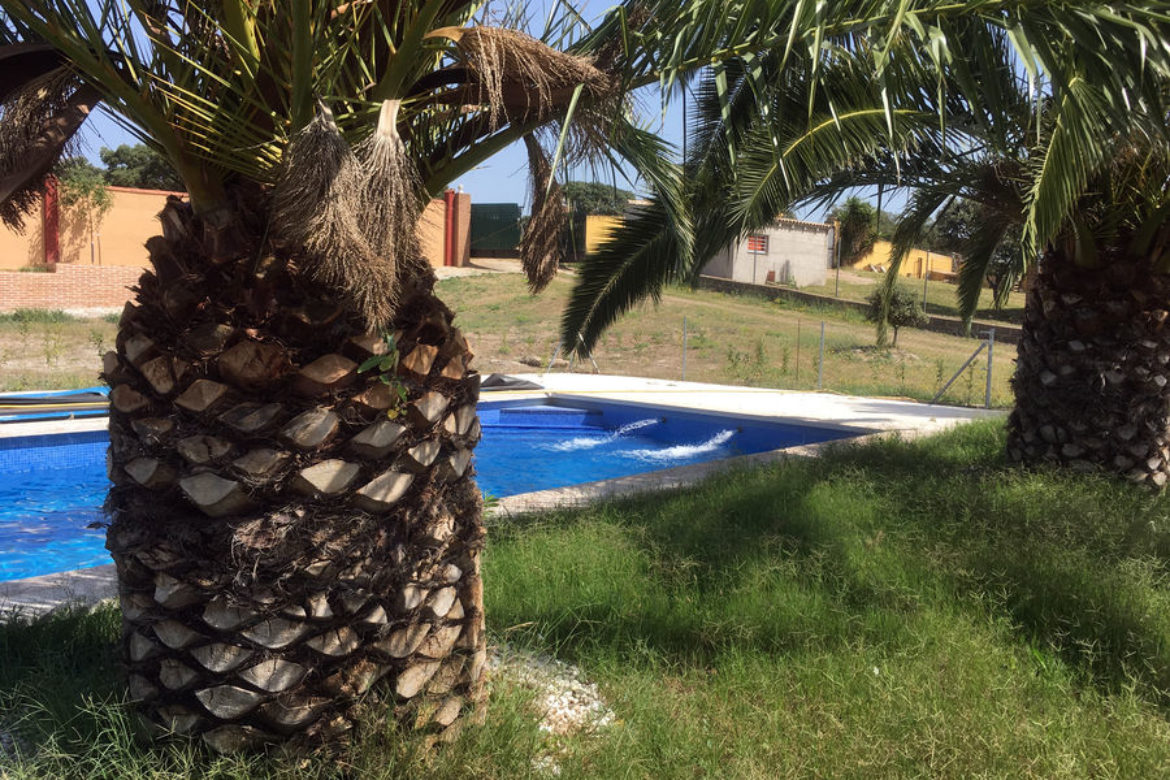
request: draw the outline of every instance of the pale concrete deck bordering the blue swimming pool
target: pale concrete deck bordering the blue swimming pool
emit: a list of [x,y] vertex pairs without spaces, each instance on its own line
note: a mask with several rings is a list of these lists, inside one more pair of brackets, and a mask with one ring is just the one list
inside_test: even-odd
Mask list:
[[[964,422],[1004,416],[1002,410],[928,406],[894,399],[732,387],[636,377],[565,373],[514,375],[542,385],[543,389],[484,391],[481,400],[565,399],[674,407],[690,412],[848,428],[858,433],[856,439],[845,440],[852,442],[885,435],[915,439]],[[104,417],[6,423],[0,426],[0,439],[82,433],[102,430],[105,427]],[[823,449],[841,446],[841,441],[837,441],[790,447],[757,455],[743,455],[615,479],[509,496],[500,499],[488,510],[488,524],[491,524],[493,518],[517,516],[558,506],[581,505],[605,498],[693,484],[730,468],[773,463],[792,457],[815,457]],[[112,564],[25,580],[11,580],[0,582],[0,620],[12,614],[39,615],[64,606],[88,606],[112,599],[116,595],[117,584]]]

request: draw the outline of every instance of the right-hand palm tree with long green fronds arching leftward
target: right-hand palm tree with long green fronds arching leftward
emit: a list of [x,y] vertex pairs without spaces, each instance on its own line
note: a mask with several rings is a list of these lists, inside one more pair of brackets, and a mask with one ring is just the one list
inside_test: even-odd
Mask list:
[[587,348],[633,302],[695,278],[714,247],[849,187],[915,191],[895,263],[931,216],[965,199],[984,228],[965,253],[968,317],[1009,227],[1023,228],[1021,264],[1040,257],[1013,380],[1011,457],[1162,485],[1170,82],[1165,47],[1157,62],[1148,54],[1168,40],[1164,9],[1113,16],[1116,6],[1038,4],[951,16],[935,6],[924,30],[930,5],[906,8],[917,21],[897,35],[867,35],[858,22],[848,40],[826,34],[817,56],[785,49],[783,69],[776,50],[713,68],[684,161],[695,251],[656,237],[655,208],[645,209],[584,263],[563,329]]

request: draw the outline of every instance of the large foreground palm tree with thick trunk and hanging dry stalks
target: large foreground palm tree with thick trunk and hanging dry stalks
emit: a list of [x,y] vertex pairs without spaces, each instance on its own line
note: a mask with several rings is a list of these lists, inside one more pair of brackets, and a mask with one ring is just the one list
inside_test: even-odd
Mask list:
[[315,744],[377,696],[449,739],[482,705],[479,377],[417,221],[525,138],[539,287],[560,215],[535,133],[674,174],[631,124],[615,39],[553,23],[558,49],[477,7],[2,4],[0,216],[99,102],[190,193],[103,372],[123,660],[164,730]]

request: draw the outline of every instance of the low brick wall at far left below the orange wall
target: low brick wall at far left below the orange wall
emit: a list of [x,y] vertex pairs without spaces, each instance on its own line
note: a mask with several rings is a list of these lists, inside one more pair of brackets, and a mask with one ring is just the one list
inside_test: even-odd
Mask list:
[[0,312],[15,309],[121,309],[140,268],[58,264],[54,272],[0,271]]

